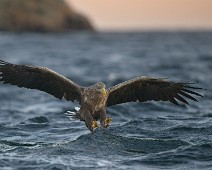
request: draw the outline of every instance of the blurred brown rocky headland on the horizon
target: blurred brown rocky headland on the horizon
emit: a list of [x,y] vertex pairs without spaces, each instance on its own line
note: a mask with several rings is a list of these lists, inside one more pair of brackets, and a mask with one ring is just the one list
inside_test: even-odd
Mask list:
[[63,0],[0,0],[0,30],[62,32],[93,27]]

